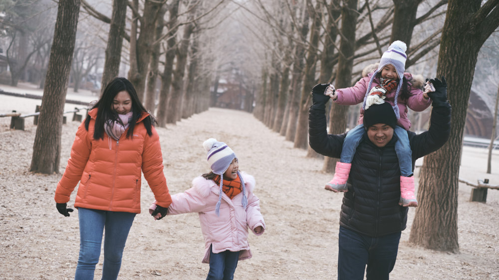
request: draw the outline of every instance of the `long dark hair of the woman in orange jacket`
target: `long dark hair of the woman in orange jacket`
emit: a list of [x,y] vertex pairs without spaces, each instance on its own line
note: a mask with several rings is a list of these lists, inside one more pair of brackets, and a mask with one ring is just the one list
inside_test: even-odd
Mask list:
[[[130,98],[132,99],[132,122],[129,122],[127,138],[133,138],[133,129],[135,128],[136,121],[140,118],[142,113],[147,113],[146,108],[142,105],[137,96],[137,92],[133,87],[132,83],[123,77],[114,78],[109,84],[107,84],[102,96],[99,101],[91,108],[97,108],[97,117],[95,118],[95,128],[94,128],[94,139],[104,139],[104,123],[106,120],[117,121],[118,113],[112,110],[112,105],[114,97],[122,91],[128,92]],[[88,125],[90,124],[90,116],[87,115],[85,119],[85,129],[88,131]],[[151,126],[154,123],[154,119],[151,115],[147,116],[143,121],[146,127],[147,134],[152,135]]]

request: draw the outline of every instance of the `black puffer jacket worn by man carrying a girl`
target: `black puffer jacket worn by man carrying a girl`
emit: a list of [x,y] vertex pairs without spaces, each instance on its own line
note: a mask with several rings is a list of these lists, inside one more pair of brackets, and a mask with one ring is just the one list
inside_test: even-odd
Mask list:
[[[339,158],[346,134],[328,135],[325,104],[315,100],[309,110],[309,143],[318,153]],[[430,129],[416,135],[407,132],[412,148],[413,166],[417,158],[440,148],[449,138],[451,106],[433,107]],[[407,207],[400,198],[400,168],[395,153],[396,137],[377,147],[367,134],[359,143],[352,160],[348,192],[344,193],[340,225],[371,237],[400,232],[406,228]]]

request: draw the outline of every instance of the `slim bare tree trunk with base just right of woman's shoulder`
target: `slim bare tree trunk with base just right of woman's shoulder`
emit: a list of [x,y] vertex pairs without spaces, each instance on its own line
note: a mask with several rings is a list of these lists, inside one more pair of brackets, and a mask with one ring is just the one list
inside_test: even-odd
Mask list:
[[165,66],[163,69],[163,75],[161,75],[161,89],[159,92],[159,103],[158,103],[158,123],[159,126],[164,128],[166,126],[166,118],[168,112],[168,101],[170,98],[170,86],[172,85],[172,74],[173,74],[173,61],[175,60],[175,44],[177,44],[176,33],[177,27],[177,17],[179,13],[179,3],[180,0],[175,0],[170,4],[170,20],[168,21],[168,40],[167,49],[165,51]]

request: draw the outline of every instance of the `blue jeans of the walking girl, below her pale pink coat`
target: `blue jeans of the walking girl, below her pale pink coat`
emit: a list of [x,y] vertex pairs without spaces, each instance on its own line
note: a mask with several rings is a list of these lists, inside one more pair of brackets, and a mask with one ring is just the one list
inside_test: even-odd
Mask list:
[[233,280],[239,261],[239,252],[213,253],[210,246],[210,271],[206,280]]

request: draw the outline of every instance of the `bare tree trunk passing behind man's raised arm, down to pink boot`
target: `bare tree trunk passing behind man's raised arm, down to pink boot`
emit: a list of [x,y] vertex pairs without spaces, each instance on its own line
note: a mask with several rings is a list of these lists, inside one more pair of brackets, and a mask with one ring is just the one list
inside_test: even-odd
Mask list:
[[[344,1],[341,9],[341,43],[338,58],[338,69],[336,70],[336,88],[346,88],[352,84],[353,56],[355,53],[355,25],[357,22],[357,0]],[[346,129],[348,106],[331,104],[329,111],[329,133],[339,134]],[[324,157],[322,170],[333,172],[336,167],[337,158]]]

